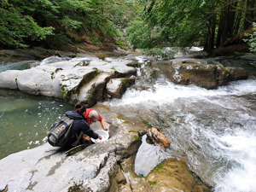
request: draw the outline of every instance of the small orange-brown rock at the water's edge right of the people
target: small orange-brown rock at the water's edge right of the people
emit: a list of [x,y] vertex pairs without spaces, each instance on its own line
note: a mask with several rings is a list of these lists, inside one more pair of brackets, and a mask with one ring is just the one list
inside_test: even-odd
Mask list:
[[154,126],[147,130],[148,138],[154,143],[154,145],[160,148],[169,148],[171,145],[170,140],[162,133],[159,127]]

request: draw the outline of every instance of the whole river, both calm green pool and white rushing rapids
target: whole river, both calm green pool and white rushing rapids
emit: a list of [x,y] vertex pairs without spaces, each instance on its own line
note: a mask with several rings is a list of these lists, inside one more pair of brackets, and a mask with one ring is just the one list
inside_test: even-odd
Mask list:
[[[256,67],[232,57],[206,60],[244,67],[249,79],[206,90],[173,84],[164,76],[142,77],[140,71],[147,70],[143,65],[136,84],[121,99],[98,105],[135,123],[143,121],[145,127],[160,126],[171,141],[166,157],[187,162],[215,191],[256,191]],[[45,143],[53,119],[72,108],[10,90],[1,90],[0,96],[2,158]],[[19,148],[19,143],[26,146]]]

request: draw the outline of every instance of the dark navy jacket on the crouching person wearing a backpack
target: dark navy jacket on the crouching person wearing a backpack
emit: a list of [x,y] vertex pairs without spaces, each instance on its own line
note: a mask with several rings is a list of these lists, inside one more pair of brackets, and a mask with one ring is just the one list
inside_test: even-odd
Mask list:
[[81,131],[83,131],[84,134],[86,134],[87,136],[92,137],[94,139],[97,139],[99,137],[96,132],[90,129],[90,126],[88,125],[83,115],[75,111],[67,111],[65,114],[68,118],[74,119],[73,126],[71,128],[69,135],[70,137],[73,137],[76,133],[78,133],[79,135]]

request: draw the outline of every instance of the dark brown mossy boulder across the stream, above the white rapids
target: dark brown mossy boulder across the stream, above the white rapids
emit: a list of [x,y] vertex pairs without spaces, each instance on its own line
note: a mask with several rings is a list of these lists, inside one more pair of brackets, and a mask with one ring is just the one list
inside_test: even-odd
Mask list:
[[191,58],[156,61],[152,67],[159,68],[175,84],[195,84],[207,90],[226,85],[230,80],[247,79],[247,72],[242,68],[222,67]]

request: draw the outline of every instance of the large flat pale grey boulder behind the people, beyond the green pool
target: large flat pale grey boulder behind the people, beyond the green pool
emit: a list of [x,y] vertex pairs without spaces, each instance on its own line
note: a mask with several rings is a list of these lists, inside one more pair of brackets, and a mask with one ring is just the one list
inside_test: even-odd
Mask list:
[[91,107],[107,96],[109,79],[137,75],[134,61],[55,61],[23,71],[0,73],[0,88],[53,96]]

